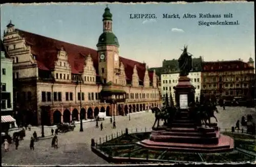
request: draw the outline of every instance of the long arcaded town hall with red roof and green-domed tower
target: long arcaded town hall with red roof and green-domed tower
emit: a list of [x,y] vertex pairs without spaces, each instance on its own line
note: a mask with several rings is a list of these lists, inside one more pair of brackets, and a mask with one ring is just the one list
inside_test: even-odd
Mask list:
[[13,59],[14,110],[26,124],[126,115],[161,104],[155,71],[120,57],[108,7],[97,50],[15,29],[11,21],[3,42]]

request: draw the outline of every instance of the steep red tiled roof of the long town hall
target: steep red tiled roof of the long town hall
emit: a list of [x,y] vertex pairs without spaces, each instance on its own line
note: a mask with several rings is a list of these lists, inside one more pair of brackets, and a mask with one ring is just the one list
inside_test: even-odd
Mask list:
[[[18,29],[17,29],[18,30]],[[24,37],[26,43],[31,46],[31,53],[35,55],[37,66],[42,70],[54,69],[54,62],[57,60],[57,53],[63,47],[68,54],[68,62],[71,66],[73,74],[79,74],[83,71],[83,65],[86,60],[86,55],[90,54],[93,59],[93,65],[98,74],[98,54],[94,49],[88,47],[71,44],[68,42],[59,41],[49,37],[33,34],[23,30],[18,30],[19,35]],[[120,61],[125,68],[127,80],[132,80],[133,68],[136,65],[139,80],[144,80],[146,65],[137,61],[120,57]],[[153,73],[149,71],[150,80],[153,81]]]

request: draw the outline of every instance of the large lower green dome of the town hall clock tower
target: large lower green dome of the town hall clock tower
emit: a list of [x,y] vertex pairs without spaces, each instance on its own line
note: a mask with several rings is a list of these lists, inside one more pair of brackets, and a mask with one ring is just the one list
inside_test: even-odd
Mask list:
[[119,46],[119,42],[117,37],[115,36],[114,33],[112,32],[104,32],[99,36],[98,44],[97,46],[100,45],[106,45],[106,44],[111,44],[111,45],[116,45]]

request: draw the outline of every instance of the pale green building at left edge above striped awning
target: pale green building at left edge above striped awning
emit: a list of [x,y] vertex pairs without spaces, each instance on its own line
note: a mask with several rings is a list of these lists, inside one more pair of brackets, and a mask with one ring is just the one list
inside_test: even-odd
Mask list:
[[13,115],[12,59],[1,40],[1,115]]

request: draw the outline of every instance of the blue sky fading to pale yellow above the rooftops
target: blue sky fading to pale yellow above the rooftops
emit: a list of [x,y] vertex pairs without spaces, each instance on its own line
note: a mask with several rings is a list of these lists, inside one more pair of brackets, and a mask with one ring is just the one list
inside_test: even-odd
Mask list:
[[[109,4],[113,33],[119,40],[119,55],[149,67],[177,59],[184,45],[193,57],[204,61],[254,59],[254,3],[162,3]],[[12,20],[15,28],[97,49],[106,3],[3,4],[1,39]],[[179,14],[163,18],[163,14]],[[184,14],[196,18],[182,18]],[[221,14],[221,18],[199,18],[199,14]],[[232,18],[224,14],[232,13]],[[157,18],[131,19],[130,14],[155,14]],[[199,26],[198,21],[239,21],[239,25]]]

